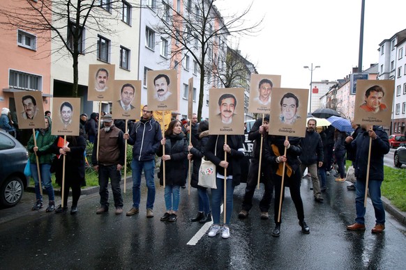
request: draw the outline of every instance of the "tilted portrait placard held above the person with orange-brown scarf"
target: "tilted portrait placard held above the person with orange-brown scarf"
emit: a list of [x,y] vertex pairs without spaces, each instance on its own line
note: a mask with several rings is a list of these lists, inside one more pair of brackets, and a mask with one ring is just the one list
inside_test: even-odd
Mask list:
[[269,134],[304,137],[308,108],[308,89],[273,88]]

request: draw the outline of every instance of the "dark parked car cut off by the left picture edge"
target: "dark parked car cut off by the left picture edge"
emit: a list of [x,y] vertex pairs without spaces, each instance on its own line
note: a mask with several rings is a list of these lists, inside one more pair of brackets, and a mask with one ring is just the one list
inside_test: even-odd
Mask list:
[[24,175],[28,152],[3,129],[0,129],[0,160],[0,205],[12,207],[20,202],[29,183]]

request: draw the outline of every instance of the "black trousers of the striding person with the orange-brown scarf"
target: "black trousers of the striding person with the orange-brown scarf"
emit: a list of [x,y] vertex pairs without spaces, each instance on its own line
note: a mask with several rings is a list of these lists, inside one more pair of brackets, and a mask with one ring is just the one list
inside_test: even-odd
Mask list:
[[[280,200],[280,186],[282,184],[282,177],[279,175],[274,175],[273,184],[275,184],[275,202],[273,204],[273,209],[275,212],[275,223],[278,223],[278,213],[279,213],[279,200]],[[292,175],[288,177],[285,173],[283,193],[282,193],[282,205],[283,200],[285,199],[285,186],[289,186],[290,196],[292,197],[294,207],[296,208],[297,218],[299,221],[303,221],[304,212],[303,212],[303,202],[300,195],[300,185],[301,185],[301,170],[297,168]],[[280,222],[282,222],[282,212],[280,213]]]

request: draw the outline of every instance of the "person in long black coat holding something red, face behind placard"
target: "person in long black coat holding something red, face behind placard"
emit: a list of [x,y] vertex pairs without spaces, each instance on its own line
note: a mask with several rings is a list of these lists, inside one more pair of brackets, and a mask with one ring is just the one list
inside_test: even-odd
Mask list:
[[[58,143],[59,142],[59,143]],[[63,137],[59,136],[54,145],[53,152],[60,155],[55,157],[54,170],[57,184],[62,186],[63,155],[65,155],[65,186],[63,189],[63,207],[55,210],[57,214],[68,210],[69,189],[72,188],[72,207],[70,214],[77,213],[77,201],[80,198],[81,186],[85,185],[84,180],[84,150],[86,139],[83,136],[66,136],[66,146],[63,146]]]

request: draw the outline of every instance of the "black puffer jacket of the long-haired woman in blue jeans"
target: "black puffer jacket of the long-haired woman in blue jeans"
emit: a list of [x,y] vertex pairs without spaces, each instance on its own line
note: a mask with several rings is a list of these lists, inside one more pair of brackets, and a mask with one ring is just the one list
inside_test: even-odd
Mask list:
[[[186,159],[188,158],[188,141],[185,134],[172,134],[166,136],[165,154],[169,154],[171,159],[165,161],[165,185],[183,186],[185,182]],[[163,145],[160,145],[158,156],[163,155]],[[163,160],[160,161],[158,172],[159,182],[163,185]]]

